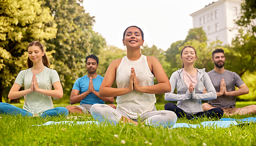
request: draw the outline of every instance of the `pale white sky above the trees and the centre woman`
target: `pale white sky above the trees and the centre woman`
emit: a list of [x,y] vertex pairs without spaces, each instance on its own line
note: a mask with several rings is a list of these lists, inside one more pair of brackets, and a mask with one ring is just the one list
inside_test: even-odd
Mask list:
[[185,40],[188,30],[193,28],[190,14],[212,2],[213,0],[84,0],[83,5],[85,12],[95,17],[93,30],[100,33],[108,45],[124,49],[124,30],[129,26],[138,26],[143,30],[144,44],[167,50],[172,43]]

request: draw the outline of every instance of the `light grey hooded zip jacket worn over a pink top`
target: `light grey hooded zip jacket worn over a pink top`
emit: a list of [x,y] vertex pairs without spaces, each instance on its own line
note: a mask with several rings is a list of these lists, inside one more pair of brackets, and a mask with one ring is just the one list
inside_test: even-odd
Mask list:
[[[171,92],[165,93],[165,100],[178,101],[177,106],[188,114],[196,114],[202,110],[201,100],[216,99],[217,94],[212,81],[205,69],[197,69],[197,84],[194,91],[188,91],[188,86],[183,79],[183,68],[172,73],[170,78]],[[202,94],[204,86],[207,93]],[[174,94],[174,89],[177,87],[177,94]]]

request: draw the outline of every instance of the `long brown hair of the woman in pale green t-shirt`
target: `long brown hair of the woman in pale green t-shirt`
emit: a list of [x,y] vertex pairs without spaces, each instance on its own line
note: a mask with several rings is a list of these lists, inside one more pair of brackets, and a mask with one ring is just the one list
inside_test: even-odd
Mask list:
[[[44,52],[44,55],[42,57],[43,64],[47,68],[50,68],[48,57],[46,56],[46,53],[43,49],[43,44],[41,44],[39,41],[32,41],[31,43],[29,43],[29,46],[27,46],[27,49],[29,49],[29,47],[32,47],[32,46],[40,47],[41,51]],[[32,68],[32,67],[33,67],[33,62],[29,59],[29,57],[27,57],[27,68]]]

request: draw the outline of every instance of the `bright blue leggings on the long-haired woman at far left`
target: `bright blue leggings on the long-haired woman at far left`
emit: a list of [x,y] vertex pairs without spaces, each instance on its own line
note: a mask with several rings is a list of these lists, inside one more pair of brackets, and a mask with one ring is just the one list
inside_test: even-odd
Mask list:
[[[28,117],[33,116],[33,113],[29,113],[28,111],[26,111],[26,109],[21,109],[16,106],[10,105],[9,103],[3,103],[3,102],[0,102],[0,114],[12,114],[12,115],[21,114],[21,116],[28,116]],[[48,109],[47,111],[44,111],[42,114],[40,114],[40,117],[59,116],[60,114],[68,116],[68,109],[64,107]]]

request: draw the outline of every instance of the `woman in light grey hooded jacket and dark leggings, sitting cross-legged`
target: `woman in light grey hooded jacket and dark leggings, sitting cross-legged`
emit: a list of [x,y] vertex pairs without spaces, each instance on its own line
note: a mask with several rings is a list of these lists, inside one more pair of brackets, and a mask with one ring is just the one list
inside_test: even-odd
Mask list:
[[[197,59],[196,50],[191,46],[185,46],[180,59],[183,61],[182,69],[171,75],[169,80],[171,92],[165,94],[165,100],[177,101],[177,105],[166,103],[165,110],[174,111],[179,118],[193,119],[201,116],[221,118],[223,115],[221,108],[202,110],[201,100],[216,99],[217,95],[205,69],[194,68],[194,61]],[[204,86],[208,91],[206,94],[202,94]],[[174,94],[175,88],[177,94]]]

